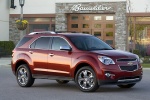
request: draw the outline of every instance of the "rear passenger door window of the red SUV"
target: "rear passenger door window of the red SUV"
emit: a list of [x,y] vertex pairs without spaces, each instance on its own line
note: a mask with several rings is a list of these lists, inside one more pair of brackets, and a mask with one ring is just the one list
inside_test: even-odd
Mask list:
[[34,41],[30,48],[35,49],[48,49],[50,37],[41,37]]

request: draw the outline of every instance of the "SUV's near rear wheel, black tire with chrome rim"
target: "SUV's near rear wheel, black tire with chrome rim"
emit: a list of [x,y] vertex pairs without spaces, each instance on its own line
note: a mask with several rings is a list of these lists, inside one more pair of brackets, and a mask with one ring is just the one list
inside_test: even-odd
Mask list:
[[27,64],[22,64],[18,67],[16,71],[16,79],[21,87],[30,87],[35,80],[32,78],[31,71]]

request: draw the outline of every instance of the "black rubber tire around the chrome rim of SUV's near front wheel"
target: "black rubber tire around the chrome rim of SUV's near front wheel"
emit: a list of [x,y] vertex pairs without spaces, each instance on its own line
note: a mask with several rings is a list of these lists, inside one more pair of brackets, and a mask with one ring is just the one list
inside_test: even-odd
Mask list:
[[[94,83],[95,83],[95,84],[94,84],[94,86],[93,86],[92,88],[90,88],[90,89],[83,89],[82,87],[80,87],[80,85],[79,85],[79,83],[78,83],[78,75],[79,75],[83,70],[89,70],[89,71],[91,71],[92,74],[94,75]],[[96,74],[95,74],[94,70],[93,70],[91,67],[89,67],[89,66],[84,66],[84,67],[80,68],[80,69],[77,71],[77,73],[76,73],[76,75],[75,75],[75,82],[76,82],[77,86],[80,88],[80,90],[83,91],[83,92],[94,92],[94,91],[96,91],[96,90],[98,89],[98,81],[97,81]]]

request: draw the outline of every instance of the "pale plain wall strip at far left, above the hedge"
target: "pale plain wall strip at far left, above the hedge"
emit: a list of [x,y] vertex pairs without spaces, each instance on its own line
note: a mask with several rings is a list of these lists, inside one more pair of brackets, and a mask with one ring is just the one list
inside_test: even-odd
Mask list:
[[0,0],[0,41],[9,40],[9,0]]

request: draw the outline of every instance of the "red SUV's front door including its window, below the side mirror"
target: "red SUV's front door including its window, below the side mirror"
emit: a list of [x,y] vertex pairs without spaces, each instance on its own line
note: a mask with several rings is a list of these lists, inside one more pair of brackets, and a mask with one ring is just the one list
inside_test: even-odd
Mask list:
[[60,50],[60,46],[69,45],[62,37],[53,37],[51,50],[48,55],[48,72],[54,76],[70,76],[72,53]]

